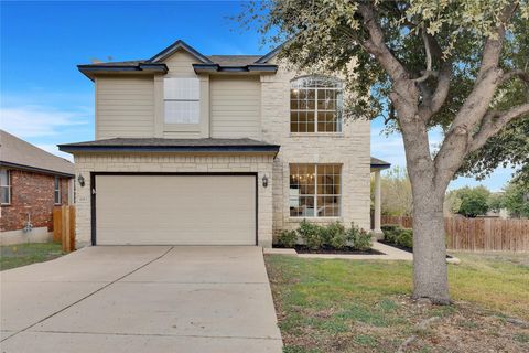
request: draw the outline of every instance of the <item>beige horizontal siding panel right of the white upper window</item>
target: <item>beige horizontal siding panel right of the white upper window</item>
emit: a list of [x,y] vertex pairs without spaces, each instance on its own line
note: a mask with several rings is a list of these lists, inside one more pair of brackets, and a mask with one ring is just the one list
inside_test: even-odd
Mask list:
[[261,136],[258,77],[212,77],[210,129],[213,138]]

